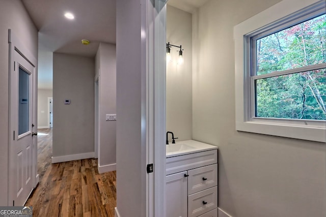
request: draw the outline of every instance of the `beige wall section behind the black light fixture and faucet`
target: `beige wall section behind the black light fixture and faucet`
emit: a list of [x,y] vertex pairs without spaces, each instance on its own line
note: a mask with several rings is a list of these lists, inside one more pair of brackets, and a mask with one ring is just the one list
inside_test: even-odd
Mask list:
[[[172,61],[167,63],[167,131],[177,141],[192,139],[192,14],[167,6],[167,42],[182,45],[184,63],[177,65],[177,47],[171,47]],[[171,142],[171,135],[169,135]]]

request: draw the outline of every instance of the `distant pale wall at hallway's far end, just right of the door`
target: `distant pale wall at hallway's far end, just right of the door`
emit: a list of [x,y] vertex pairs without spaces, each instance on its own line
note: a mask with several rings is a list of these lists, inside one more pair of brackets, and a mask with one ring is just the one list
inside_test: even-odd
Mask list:
[[52,97],[52,90],[38,89],[37,94],[37,126],[38,128],[48,128],[48,97]]

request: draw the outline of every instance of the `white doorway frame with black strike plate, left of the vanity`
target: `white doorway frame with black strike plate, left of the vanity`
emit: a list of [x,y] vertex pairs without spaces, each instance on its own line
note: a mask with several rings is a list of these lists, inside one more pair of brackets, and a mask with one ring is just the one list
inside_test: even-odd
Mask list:
[[[151,1],[150,1],[151,2]],[[166,22],[168,0],[148,3],[147,153],[155,165],[147,181],[147,216],[166,216]],[[153,25],[151,24],[153,22]]]

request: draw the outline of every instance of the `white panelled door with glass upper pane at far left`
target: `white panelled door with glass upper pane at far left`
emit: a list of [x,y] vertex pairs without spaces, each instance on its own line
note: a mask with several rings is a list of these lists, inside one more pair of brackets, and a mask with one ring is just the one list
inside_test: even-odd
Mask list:
[[10,49],[8,205],[22,206],[36,180],[35,67],[18,47],[12,46]]

